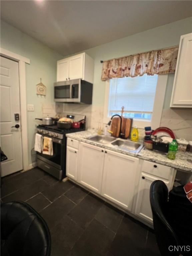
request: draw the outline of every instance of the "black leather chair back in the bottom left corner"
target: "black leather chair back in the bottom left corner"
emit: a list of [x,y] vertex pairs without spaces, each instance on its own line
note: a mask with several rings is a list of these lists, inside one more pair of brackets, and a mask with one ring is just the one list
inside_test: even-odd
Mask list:
[[51,236],[44,219],[27,203],[1,204],[1,256],[50,256]]

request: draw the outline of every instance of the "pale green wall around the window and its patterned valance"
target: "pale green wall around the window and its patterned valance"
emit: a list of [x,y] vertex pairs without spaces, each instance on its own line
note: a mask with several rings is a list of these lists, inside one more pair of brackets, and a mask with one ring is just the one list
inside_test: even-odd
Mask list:
[[[181,35],[191,32],[192,17],[86,50],[85,52],[95,60],[93,105],[101,106],[104,104],[105,82],[101,81],[102,64],[100,60],[175,46],[179,44]],[[166,108],[170,104],[174,78],[173,74],[169,76],[164,102]]]

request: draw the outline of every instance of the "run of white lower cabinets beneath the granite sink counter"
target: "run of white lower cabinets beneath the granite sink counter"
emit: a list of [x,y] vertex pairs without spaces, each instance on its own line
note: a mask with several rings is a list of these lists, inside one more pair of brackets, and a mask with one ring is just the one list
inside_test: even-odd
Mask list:
[[153,223],[150,186],[153,181],[162,180],[170,190],[176,170],[68,138],[66,174],[108,201]]

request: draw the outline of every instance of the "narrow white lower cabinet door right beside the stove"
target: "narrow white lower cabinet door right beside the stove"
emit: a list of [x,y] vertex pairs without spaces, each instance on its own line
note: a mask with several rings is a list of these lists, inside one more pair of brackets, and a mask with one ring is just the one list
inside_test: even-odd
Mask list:
[[67,147],[66,175],[77,180],[78,150]]

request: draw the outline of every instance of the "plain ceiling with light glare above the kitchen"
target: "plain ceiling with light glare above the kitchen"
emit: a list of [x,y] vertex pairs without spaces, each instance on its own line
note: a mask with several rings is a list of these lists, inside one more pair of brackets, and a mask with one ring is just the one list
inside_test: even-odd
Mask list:
[[1,19],[66,56],[192,16],[192,1],[4,1]]

